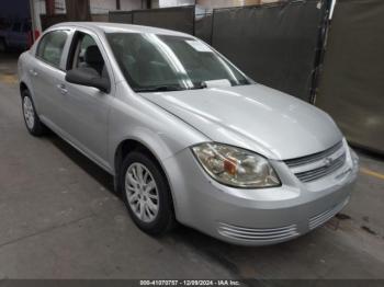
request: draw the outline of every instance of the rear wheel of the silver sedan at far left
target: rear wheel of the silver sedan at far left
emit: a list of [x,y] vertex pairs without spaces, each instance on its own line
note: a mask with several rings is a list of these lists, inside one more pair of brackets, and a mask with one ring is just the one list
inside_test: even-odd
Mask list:
[[36,137],[44,135],[46,127],[39,120],[31,94],[27,90],[22,91],[22,101],[23,116],[26,129],[31,135]]

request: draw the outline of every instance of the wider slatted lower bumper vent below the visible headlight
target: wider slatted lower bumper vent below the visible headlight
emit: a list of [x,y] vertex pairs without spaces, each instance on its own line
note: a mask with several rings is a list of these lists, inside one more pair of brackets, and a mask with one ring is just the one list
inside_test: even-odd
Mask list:
[[296,225],[279,228],[245,228],[219,222],[217,231],[227,238],[251,241],[278,241],[298,236]]

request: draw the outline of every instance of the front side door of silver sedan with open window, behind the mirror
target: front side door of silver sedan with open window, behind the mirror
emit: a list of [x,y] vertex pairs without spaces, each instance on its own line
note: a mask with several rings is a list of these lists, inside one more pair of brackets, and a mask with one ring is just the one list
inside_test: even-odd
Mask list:
[[63,127],[71,141],[99,164],[108,165],[108,128],[114,87],[112,70],[100,39],[90,31],[77,31],[70,45],[67,70],[94,69],[111,82],[105,93],[92,87],[63,81],[67,93],[61,96]]

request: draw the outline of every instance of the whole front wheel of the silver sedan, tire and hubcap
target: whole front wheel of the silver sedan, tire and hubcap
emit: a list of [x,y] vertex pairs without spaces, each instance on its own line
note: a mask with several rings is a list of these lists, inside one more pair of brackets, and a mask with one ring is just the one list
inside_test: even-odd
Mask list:
[[143,231],[156,236],[174,226],[168,181],[151,157],[140,151],[128,153],[122,167],[121,186],[128,213]]

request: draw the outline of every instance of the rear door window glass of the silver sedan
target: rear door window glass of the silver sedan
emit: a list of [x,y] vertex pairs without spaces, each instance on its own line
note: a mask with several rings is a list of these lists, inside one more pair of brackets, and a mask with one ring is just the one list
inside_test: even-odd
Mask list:
[[38,43],[36,57],[56,68],[59,68],[63,49],[67,38],[67,31],[53,31],[47,33]]

